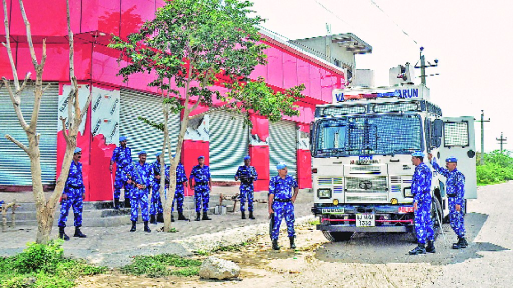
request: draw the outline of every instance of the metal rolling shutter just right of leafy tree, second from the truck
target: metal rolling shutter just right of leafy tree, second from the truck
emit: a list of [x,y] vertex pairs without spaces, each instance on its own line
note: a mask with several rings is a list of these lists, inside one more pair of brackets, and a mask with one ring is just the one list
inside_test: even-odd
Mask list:
[[248,154],[249,132],[244,115],[225,110],[209,113],[209,165],[212,180],[233,181]]

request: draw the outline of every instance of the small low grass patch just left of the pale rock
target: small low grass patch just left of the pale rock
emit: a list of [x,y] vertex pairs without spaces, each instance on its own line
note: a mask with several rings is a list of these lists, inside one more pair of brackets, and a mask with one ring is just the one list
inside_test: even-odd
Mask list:
[[[201,261],[184,258],[175,254],[154,256],[136,256],[133,262],[120,270],[125,274],[146,275],[151,278],[176,276],[194,276],[200,271]],[[184,268],[184,269],[176,269]]]

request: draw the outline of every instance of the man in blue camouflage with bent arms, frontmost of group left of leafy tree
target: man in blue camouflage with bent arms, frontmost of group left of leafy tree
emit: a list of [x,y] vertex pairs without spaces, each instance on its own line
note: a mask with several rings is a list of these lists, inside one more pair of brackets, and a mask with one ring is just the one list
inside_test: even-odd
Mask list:
[[135,231],[135,224],[137,223],[137,210],[141,206],[141,214],[144,221],[144,231],[151,232],[148,226],[148,194],[153,180],[153,171],[151,165],[146,163],[146,152],[141,151],[137,153],[139,161],[131,163],[126,169],[126,182],[133,184],[130,191],[130,206],[132,208],[130,220],[132,221],[132,228],[130,232]]

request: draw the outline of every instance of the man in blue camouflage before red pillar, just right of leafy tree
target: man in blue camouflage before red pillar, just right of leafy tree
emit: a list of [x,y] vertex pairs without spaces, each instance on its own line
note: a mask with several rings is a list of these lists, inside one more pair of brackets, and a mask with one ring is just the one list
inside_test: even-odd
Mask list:
[[[194,185],[192,184],[192,179],[194,179]],[[194,200],[196,202],[196,219],[194,220],[212,220],[208,217],[208,200],[212,190],[212,179],[210,178],[210,168],[205,165],[204,156],[198,157],[198,165],[192,167],[189,185],[194,189]],[[202,202],[203,218],[200,219]]]

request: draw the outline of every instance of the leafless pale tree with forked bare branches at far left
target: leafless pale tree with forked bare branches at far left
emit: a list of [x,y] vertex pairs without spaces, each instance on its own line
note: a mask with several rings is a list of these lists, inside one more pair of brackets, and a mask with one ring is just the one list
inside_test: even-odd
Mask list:
[[[19,124],[22,126],[23,130],[27,134],[27,138],[29,141],[29,146],[26,147],[22,142],[14,139],[11,135],[7,134],[5,137],[12,142],[14,142],[19,148],[23,149],[27,153],[30,158],[30,170],[32,174],[32,191],[34,193],[34,200],[36,204],[36,217],[37,217],[37,243],[47,243],[50,239],[50,233],[53,225],[53,218],[55,215],[55,209],[57,207],[57,202],[60,199],[64,185],[66,183],[66,179],[68,176],[71,160],[73,158],[73,151],[76,147],[76,135],[78,133],[78,127],[80,126],[82,119],[87,112],[87,108],[89,107],[89,103],[91,101],[91,95],[89,95],[84,107],[80,109],[78,103],[78,85],[74,75],[74,65],[73,65],[73,33],[71,32],[70,26],[70,11],[69,11],[69,0],[66,1],[67,8],[67,22],[68,22],[68,37],[69,37],[69,65],[70,65],[70,80],[72,83],[72,89],[68,96],[68,118],[69,119],[69,130],[66,131],[66,118],[61,118],[63,121],[63,135],[66,139],[66,153],[64,155],[64,160],[62,164],[61,174],[57,179],[55,190],[51,194],[49,199],[45,198],[43,193],[43,183],[41,181],[41,153],[39,149],[39,138],[40,135],[36,132],[37,129],[37,119],[39,117],[39,111],[41,106],[41,99],[43,97],[43,93],[46,88],[43,88],[43,68],[45,66],[46,61],[46,40],[43,40],[43,54],[41,58],[41,63],[38,63],[34,45],[32,42],[32,34],[30,30],[30,23],[27,19],[27,15],[25,13],[25,7],[23,5],[22,0],[19,1],[20,10],[22,13],[23,20],[25,22],[26,32],[27,32],[27,42],[29,45],[30,56],[32,58],[32,64],[34,65],[34,69],[36,72],[36,80],[35,80],[35,88],[34,88],[34,107],[32,110],[32,116],[30,119],[30,124],[27,124],[25,118],[22,114],[20,104],[21,104],[21,93],[24,90],[27,81],[30,79],[30,72],[27,73],[22,85],[19,85],[16,66],[14,64],[14,59],[12,56],[11,46],[10,46],[10,35],[9,35],[9,22],[8,22],[8,14],[7,14],[7,3],[6,0],[3,0],[4,4],[4,23],[6,30],[6,43],[4,46],[7,48],[7,54],[9,56],[9,61],[11,64],[12,74],[13,74],[13,84],[14,90],[11,88],[9,80],[6,77],[2,77],[3,83],[6,86],[12,105],[14,107],[14,111],[16,112],[16,116],[18,118]],[[71,109],[73,107],[73,109]]]

